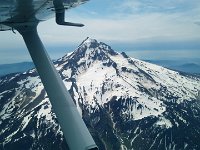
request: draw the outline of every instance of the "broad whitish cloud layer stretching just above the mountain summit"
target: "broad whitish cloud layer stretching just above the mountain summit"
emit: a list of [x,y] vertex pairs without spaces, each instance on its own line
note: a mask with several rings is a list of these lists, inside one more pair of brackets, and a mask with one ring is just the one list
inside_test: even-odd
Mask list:
[[[70,15],[69,15],[70,16]],[[76,20],[74,20],[76,18]],[[141,42],[141,41],[186,41],[199,39],[199,26],[183,20],[182,14],[138,14],[124,18],[82,18],[69,20],[82,22],[83,28],[57,26],[54,20],[40,25],[40,33],[49,44],[81,42],[85,37],[102,41]],[[51,26],[51,28],[46,28]],[[52,30],[53,29],[53,30]]]

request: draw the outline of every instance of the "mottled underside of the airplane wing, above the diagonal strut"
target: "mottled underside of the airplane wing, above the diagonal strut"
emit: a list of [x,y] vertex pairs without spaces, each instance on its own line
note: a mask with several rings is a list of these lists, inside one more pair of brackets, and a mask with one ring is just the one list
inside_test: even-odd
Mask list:
[[0,31],[10,30],[11,23],[45,21],[88,0],[0,0]]

